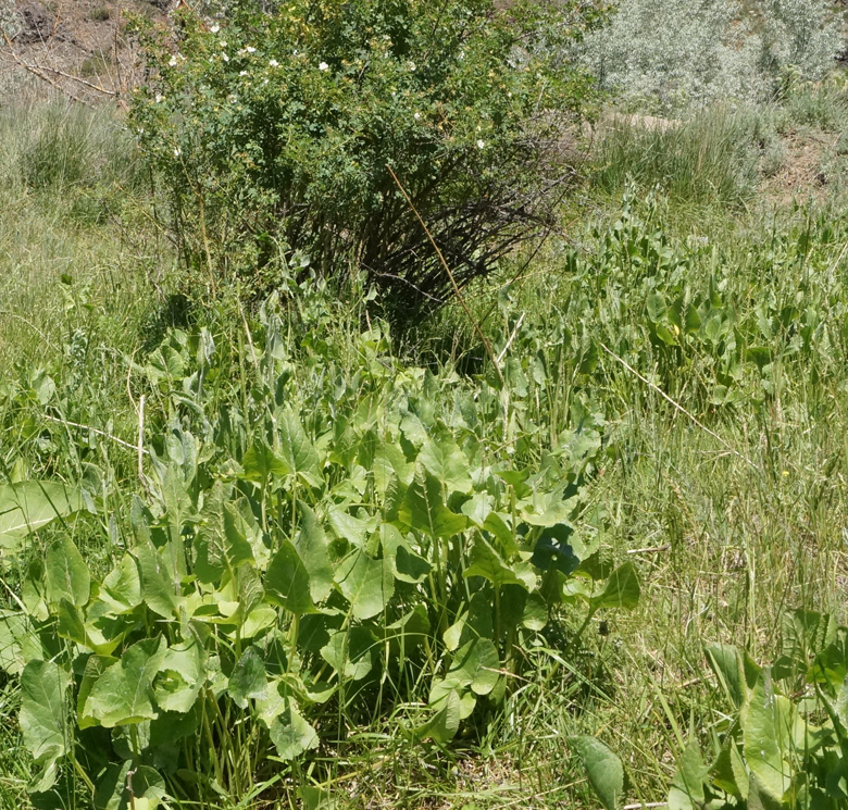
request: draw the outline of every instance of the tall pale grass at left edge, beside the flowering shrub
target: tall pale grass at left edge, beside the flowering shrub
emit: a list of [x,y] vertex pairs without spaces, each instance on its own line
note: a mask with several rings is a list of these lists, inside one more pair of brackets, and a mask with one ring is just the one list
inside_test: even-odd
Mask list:
[[144,166],[120,120],[64,100],[2,108],[0,176],[0,371],[61,354],[77,304],[78,328],[132,332],[167,250],[141,226]]

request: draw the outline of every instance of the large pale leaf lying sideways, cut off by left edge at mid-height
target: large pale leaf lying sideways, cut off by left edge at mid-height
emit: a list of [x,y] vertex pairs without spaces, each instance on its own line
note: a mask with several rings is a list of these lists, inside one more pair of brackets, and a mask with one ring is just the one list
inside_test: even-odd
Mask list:
[[85,508],[79,489],[55,481],[21,481],[0,486],[0,557],[17,552],[23,539],[59,518]]

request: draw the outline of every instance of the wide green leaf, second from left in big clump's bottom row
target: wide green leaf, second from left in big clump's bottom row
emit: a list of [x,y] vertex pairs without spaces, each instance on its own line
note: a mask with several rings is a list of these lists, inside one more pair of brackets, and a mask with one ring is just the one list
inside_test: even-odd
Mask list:
[[163,638],[146,638],[124,650],[91,686],[85,716],[104,728],[153,720],[153,680],[165,658]]

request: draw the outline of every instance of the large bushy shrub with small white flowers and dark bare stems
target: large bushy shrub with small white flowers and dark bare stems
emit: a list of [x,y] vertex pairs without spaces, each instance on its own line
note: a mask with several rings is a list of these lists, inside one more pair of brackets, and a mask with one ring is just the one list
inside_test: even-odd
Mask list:
[[297,250],[328,275],[365,269],[404,306],[444,300],[388,166],[460,284],[536,234],[562,187],[549,145],[589,97],[556,55],[595,16],[577,8],[240,0],[209,27],[183,16],[176,42],[149,36],[135,121],[184,258],[213,285],[267,285]]

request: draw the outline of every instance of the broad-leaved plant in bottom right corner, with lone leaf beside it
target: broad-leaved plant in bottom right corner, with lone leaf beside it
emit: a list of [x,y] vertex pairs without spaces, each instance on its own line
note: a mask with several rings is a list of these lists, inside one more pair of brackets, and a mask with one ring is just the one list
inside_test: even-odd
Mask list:
[[[823,808],[848,800],[848,628],[826,613],[784,616],[784,652],[761,666],[744,650],[714,644],[707,661],[731,713],[711,728],[706,763],[693,738],[677,757],[669,807]],[[573,740],[604,808],[621,806],[619,758],[593,737]]]

